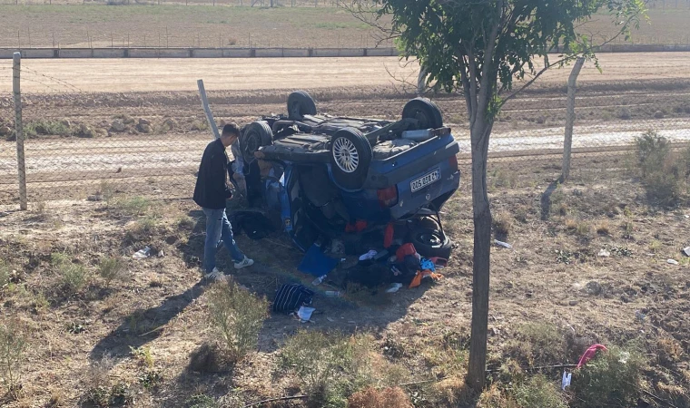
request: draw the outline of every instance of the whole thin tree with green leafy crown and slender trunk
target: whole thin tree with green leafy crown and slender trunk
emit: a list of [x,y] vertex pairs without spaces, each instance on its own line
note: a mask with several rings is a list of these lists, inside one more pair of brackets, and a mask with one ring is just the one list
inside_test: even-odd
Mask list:
[[[611,15],[629,38],[645,15],[643,0],[376,0],[350,12],[389,38],[428,83],[463,95],[472,155],[474,219],[472,329],[468,384],[483,388],[487,359],[491,211],[487,194],[488,141],[501,107],[547,70],[584,56],[596,63],[593,40],[578,29],[597,13]],[[392,23],[381,24],[390,15]],[[558,53],[557,61],[551,61]],[[598,64],[596,64],[598,67]],[[516,85],[516,88],[514,88]],[[503,93],[506,93],[503,96]]]

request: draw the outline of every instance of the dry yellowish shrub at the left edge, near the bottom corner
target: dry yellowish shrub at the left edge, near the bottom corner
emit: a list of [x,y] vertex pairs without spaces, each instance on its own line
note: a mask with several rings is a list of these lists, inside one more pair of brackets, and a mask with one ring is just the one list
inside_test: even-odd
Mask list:
[[7,393],[14,398],[21,389],[20,380],[26,346],[25,330],[18,321],[0,325],[0,374]]

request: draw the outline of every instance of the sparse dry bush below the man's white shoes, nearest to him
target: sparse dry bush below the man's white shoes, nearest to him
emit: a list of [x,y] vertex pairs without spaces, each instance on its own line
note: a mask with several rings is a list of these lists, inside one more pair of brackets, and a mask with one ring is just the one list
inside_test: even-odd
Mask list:
[[268,306],[265,297],[254,296],[232,281],[216,283],[210,289],[211,324],[233,361],[256,349]]

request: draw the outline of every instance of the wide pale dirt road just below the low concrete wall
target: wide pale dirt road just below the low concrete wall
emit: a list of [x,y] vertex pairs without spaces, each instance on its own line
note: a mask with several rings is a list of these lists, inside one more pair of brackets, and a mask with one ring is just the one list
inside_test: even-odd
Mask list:
[[[690,78],[690,53],[606,53],[599,60],[603,73],[586,63],[581,82]],[[12,90],[11,66],[0,61],[0,92]],[[397,57],[25,60],[23,67],[24,92],[195,91],[199,78],[208,90],[375,86],[416,83],[418,73],[415,63],[401,66]],[[568,73],[554,70],[540,81],[565,83]]]

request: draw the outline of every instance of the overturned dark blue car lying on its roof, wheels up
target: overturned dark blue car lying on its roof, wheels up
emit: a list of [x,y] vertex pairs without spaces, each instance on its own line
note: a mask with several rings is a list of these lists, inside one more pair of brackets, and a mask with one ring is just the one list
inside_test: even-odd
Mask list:
[[302,250],[323,238],[351,253],[399,240],[449,257],[439,211],[459,186],[459,148],[428,99],[382,121],[318,114],[292,92],[287,115],[244,126],[232,150],[233,183]]

